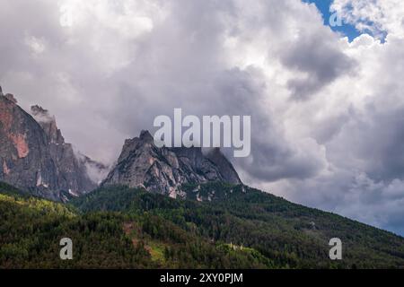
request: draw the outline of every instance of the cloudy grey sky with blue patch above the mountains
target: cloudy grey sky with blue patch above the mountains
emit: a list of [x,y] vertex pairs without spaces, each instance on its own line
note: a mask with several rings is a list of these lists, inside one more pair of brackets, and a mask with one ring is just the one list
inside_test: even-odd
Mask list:
[[250,115],[244,183],[404,234],[403,1],[0,1],[3,91],[93,159],[174,108]]

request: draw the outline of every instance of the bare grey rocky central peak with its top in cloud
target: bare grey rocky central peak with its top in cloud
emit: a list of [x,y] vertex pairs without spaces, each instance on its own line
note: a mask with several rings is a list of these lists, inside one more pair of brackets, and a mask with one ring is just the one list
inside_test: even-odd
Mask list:
[[232,164],[219,150],[207,155],[200,148],[158,148],[153,136],[142,131],[139,137],[127,140],[117,165],[102,186],[126,185],[169,195],[184,196],[185,183],[221,181],[242,183]]

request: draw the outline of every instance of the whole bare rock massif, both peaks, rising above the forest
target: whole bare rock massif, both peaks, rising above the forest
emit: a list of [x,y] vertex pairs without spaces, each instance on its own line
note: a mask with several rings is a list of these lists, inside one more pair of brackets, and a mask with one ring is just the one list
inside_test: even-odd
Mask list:
[[0,87],[0,181],[33,195],[66,201],[99,185],[123,185],[184,197],[184,184],[242,183],[220,149],[158,148],[148,131],[127,140],[108,170],[66,143],[47,109],[32,106],[30,115]]

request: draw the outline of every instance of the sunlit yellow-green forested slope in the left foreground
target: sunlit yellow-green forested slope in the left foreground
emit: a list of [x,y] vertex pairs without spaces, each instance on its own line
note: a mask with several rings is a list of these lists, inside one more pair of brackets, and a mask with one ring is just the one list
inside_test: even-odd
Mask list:
[[[0,222],[0,268],[275,266],[255,250],[212,244],[152,213],[79,213],[5,184],[0,187]],[[64,237],[73,240],[73,260],[59,257]]]

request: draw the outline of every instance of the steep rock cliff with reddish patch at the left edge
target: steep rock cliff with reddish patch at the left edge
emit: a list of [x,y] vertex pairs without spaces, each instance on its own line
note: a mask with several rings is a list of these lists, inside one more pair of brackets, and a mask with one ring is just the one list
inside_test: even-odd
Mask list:
[[52,200],[95,188],[86,162],[65,143],[55,118],[38,106],[31,112],[33,117],[0,90],[0,181]]

